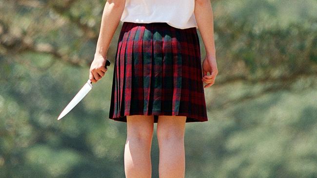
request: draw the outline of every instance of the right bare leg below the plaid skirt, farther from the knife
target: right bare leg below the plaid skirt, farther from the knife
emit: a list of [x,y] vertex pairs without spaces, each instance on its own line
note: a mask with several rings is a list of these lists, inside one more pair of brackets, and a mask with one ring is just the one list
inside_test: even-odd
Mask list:
[[158,116],[159,178],[185,177],[186,116]]

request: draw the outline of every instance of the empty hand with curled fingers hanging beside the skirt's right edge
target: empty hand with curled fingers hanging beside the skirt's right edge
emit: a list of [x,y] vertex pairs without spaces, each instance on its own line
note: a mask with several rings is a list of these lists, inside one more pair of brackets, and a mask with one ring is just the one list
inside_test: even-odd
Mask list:
[[[213,55],[206,54],[205,59],[202,61],[203,77],[202,81],[207,83],[204,88],[208,88],[215,83],[216,76],[218,74],[216,57]],[[207,75],[209,72],[209,75]]]

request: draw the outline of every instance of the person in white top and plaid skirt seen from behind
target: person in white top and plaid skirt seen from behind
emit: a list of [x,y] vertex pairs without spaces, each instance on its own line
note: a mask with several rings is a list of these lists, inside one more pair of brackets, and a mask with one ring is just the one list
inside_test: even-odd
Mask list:
[[[109,119],[127,124],[125,176],[151,178],[157,123],[159,177],[184,178],[185,123],[208,121],[204,88],[218,74],[210,0],[107,0],[89,71],[94,83],[107,71],[119,21]],[[202,65],[197,29],[206,50]]]

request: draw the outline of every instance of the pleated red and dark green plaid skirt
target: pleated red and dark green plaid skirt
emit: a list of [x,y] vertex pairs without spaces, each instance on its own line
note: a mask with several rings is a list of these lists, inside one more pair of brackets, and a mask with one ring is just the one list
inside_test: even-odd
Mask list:
[[123,22],[119,34],[109,119],[127,115],[186,116],[207,121],[196,27]]

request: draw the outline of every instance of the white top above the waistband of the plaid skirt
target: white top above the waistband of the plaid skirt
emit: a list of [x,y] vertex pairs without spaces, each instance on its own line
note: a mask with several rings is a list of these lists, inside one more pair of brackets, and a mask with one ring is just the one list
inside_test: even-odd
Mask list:
[[126,0],[122,22],[166,22],[179,28],[196,27],[195,0]]

